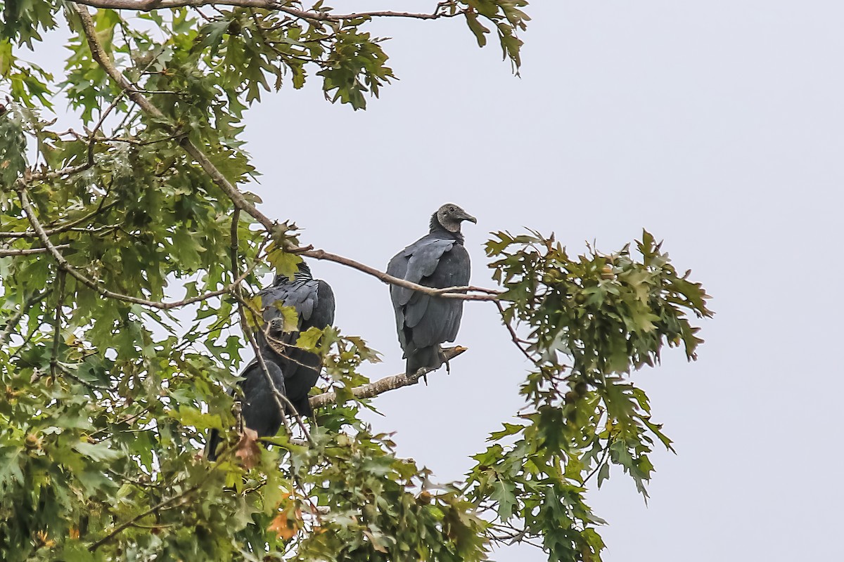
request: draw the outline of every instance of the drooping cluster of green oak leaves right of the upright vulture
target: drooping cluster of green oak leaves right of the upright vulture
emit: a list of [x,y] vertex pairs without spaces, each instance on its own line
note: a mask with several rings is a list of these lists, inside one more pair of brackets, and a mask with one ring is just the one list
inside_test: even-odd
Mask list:
[[502,321],[527,328],[512,335],[533,363],[521,388],[532,411],[490,436],[468,493],[495,512],[499,540],[540,538],[551,560],[598,560],[603,520],[584,501],[587,481],[598,474],[600,486],[615,464],[647,498],[654,438],[671,447],[626,376],[653,366],[663,345],[694,359],[702,340],[687,317],[711,316],[709,297],[647,232],[638,255],[625,246],[571,259],[539,233],[495,233],[486,249],[506,288]]

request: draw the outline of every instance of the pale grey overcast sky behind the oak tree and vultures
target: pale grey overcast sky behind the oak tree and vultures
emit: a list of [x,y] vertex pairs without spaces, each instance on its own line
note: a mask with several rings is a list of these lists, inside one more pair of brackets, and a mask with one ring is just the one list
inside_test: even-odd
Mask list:
[[[371,29],[393,38],[401,80],[365,112],[327,104],[316,82],[268,96],[247,129],[262,211],[383,267],[456,202],[479,219],[464,232],[485,286],[490,231],[554,231],[576,253],[646,227],[717,316],[695,364],[674,350],[634,376],[678,454],[654,456],[649,506],[619,470],[590,493],[609,522],[604,559],[844,559],[844,3],[537,1],[528,13],[522,78],[461,21],[392,20]],[[399,372],[387,287],[313,270],[337,293],[338,325],[384,354],[371,377]],[[494,308],[468,303],[463,318],[470,351],[451,376],[384,394],[373,419],[441,480],[522,405],[526,365]],[[545,559],[528,546],[494,558]]]

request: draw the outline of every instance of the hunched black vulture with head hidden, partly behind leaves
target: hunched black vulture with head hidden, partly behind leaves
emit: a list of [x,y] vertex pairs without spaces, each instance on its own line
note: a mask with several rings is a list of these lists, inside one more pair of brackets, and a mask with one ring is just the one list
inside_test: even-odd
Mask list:
[[[310,416],[308,392],[317,383],[322,361],[316,354],[303,351],[294,344],[300,332],[311,327],[323,329],[333,324],[334,293],[331,286],[321,279],[314,279],[311,269],[303,261],[292,280],[287,276],[275,276],[273,286],[268,286],[258,295],[264,311],[264,324],[256,334],[258,351],[275,387],[284,393],[299,415]],[[276,303],[295,308],[298,329],[284,331],[284,316]],[[273,398],[273,389],[257,359],[246,365],[241,377],[244,425],[260,437],[274,436],[283,420],[279,405]],[[219,434],[212,431],[206,447],[209,459],[216,458],[218,446]]]

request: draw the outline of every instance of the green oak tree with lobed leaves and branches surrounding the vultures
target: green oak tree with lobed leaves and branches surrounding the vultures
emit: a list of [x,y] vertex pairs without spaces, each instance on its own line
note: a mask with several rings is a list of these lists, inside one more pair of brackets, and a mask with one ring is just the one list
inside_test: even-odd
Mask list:
[[[647,497],[649,454],[671,442],[630,375],[666,345],[695,358],[701,285],[647,231],[576,255],[553,234],[498,232],[485,245],[497,287],[433,290],[313,249],[295,216],[268,217],[241,190],[256,174],[240,140],[250,104],[311,79],[361,110],[395,78],[372,19],[463,19],[518,72],[526,5],[0,2],[3,559],[471,561],[514,541],[600,559],[587,484],[617,465]],[[36,62],[60,26],[72,38],[54,77]],[[59,93],[78,122],[65,131]],[[526,407],[463,481],[439,482],[360,420],[422,373],[371,382],[377,353],[337,327],[296,344],[325,366],[316,419],[290,418],[272,447],[238,431],[228,391],[256,345],[260,281],[303,257],[498,308],[529,366]],[[211,429],[225,441],[214,462]]]

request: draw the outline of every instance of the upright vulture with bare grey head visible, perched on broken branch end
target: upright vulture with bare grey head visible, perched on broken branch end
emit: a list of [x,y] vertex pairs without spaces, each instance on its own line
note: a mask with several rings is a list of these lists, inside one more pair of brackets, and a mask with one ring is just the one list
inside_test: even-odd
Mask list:
[[[468,285],[471,266],[460,233],[463,221],[478,222],[457,205],[441,206],[430,217],[430,233],[396,254],[387,265],[387,273],[437,288]],[[397,285],[390,286],[390,297],[396,311],[398,341],[408,360],[406,372],[440,367],[444,362],[440,344],[457,337],[463,301],[431,297]]]

